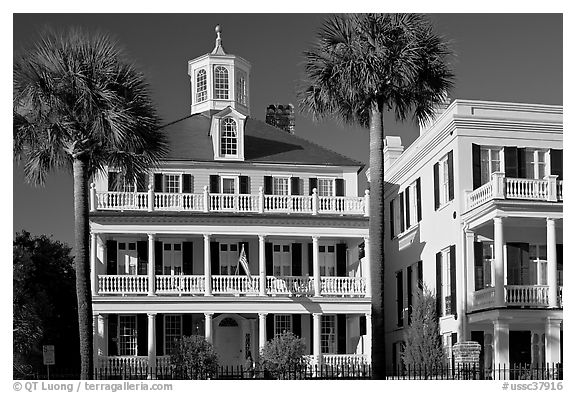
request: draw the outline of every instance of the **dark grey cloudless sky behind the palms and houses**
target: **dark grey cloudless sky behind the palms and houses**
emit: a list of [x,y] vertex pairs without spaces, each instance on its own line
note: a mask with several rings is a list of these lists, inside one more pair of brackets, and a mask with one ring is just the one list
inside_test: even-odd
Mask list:
[[[561,14],[431,17],[457,54],[451,98],[562,104]],[[214,27],[220,24],[226,52],[252,64],[252,116],[264,120],[268,104],[296,104],[302,52],[313,42],[323,18],[320,14],[15,14],[14,50],[29,44],[45,25],[109,32],[145,72],[159,113],[169,122],[189,114],[187,61],[212,50]],[[410,122],[397,124],[385,116],[385,124],[387,135],[401,135],[405,146],[418,135]],[[336,122],[313,123],[297,113],[296,134],[368,162],[367,130]],[[53,234],[71,244],[71,174],[50,176],[45,188],[25,184],[16,164],[13,175],[13,230]]]

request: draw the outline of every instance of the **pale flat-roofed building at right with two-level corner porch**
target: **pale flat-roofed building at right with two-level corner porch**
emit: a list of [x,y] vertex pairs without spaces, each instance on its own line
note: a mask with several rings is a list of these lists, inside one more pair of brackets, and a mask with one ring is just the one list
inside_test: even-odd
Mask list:
[[560,362],[562,107],[446,106],[406,150],[385,143],[388,362],[422,281],[447,349],[478,341],[486,366]]

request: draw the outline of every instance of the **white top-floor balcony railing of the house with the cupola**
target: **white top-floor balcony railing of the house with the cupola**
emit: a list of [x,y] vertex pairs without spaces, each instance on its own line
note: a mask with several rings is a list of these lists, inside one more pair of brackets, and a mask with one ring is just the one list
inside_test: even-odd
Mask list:
[[208,187],[201,194],[154,192],[97,192],[90,189],[90,211],[192,211],[234,213],[338,214],[364,215],[369,213],[369,193],[364,196],[264,195],[210,193]]

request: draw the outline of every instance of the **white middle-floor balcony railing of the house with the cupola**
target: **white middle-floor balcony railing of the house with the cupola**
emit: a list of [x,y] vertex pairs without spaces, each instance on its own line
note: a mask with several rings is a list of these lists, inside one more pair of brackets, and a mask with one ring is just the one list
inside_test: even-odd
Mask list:
[[[257,296],[260,293],[259,276],[213,275],[212,294]],[[148,276],[99,275],[99,295],[146,295]],[[204,275],[158,275],[155,277],[157,295],[204,295]],[[271,296],[312,296],[314,278],[309,276],[267,276],[266,293]],[[365,297],[364,277],[321,277],[320,295],[326,297]]]

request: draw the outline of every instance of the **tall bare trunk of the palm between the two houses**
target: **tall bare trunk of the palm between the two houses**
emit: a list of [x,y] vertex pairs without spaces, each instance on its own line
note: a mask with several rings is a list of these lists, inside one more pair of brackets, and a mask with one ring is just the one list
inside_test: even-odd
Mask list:
[[370,108],[370,276],[372,378],[386,377],[384,331],[384,121],[382,100]]

